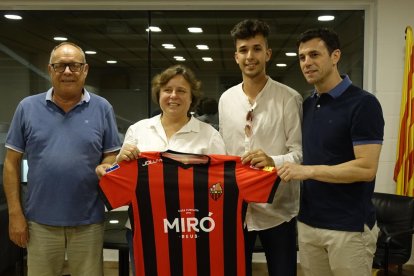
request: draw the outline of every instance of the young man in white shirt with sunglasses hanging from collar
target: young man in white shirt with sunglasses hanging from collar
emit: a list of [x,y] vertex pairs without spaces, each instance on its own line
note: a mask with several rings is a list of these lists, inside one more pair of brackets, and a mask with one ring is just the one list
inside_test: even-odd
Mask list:
[[[281,166],[302,161],[302,97],[292,88],[272,80],[266,63],[269,26],[247,19],[231,35],[243,82],[223,93],[219,101],[220,133],[230,155],[242,156],[255,167]],[[298,181],[281,183],[272,204],[249,204],[245,218],[247,275],[256,237],[263,245],[269,275],[296,275],[296,215]]]

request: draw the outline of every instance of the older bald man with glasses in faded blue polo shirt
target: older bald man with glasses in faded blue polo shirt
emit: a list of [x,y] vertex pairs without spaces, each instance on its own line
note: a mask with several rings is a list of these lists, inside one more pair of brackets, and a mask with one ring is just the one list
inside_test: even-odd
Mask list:
[[[6,139],[4,190],[10,239],[27,247],[28,275],[103,275],[104,205],[95,168],[120,148],[112,106],[84,88],[82,49],[56,46],[48,65],[52,88],[23,99]],[[27,195],[20,203],[26,154]]]

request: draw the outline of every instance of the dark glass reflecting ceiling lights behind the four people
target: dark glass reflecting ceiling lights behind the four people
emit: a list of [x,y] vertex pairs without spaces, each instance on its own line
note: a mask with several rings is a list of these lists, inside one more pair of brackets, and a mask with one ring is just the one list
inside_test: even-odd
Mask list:
[[[327,26],[335,29],[342,40],[341,72],[363,85],[362,10],[13,13],[22,19],[6,19],[6,11],[0,18],[0,122],[10,122],[23,97],[49,88],[47,63],[50,51],[59,43],[55,37],[66,37],[88,53],[93,51],[87,54],[87,88],[111,102],[121,132],[156,109],[150,100],[150,80],[170,65],[189,66],[202,81],[203,93],[216,99],[240,82],[230,30],[245,18],[263,19],[271,27],[269,46],[273,54],[267,72],[272,78],[306,96],[312,87],[300,72],[297,56],[286,53],[297,52],[300,32]],[[318,16],[325,14],[335,19],[318,21]],[[190,27],[199,28],[198,32],[190,32]]]

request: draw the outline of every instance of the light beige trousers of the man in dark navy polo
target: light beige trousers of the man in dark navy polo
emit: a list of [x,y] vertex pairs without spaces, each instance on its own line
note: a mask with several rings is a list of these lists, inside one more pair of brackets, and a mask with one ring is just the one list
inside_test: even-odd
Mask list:
[[306,276],[370,276],[379,229],[335,231],[298,222],[300,265]]

